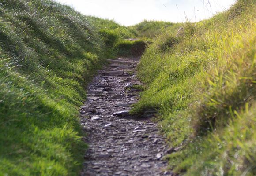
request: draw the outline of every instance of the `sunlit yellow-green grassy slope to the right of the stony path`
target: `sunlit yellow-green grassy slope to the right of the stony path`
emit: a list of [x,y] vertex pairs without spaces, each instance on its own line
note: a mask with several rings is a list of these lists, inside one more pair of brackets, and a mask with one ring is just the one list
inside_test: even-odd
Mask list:
[[256,2],[167,32],[145,52],[148,86],[133,113],[157,109],[174,172],[256,175]]

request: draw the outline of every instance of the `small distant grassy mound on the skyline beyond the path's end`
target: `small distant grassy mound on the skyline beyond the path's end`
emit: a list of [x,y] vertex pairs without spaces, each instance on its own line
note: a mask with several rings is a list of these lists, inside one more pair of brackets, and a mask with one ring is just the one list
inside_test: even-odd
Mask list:
[[143,21],[134,26],[129,26],[131,30],[135,30],[137,37],[155,38],[162,33],[177,32],[181,27],[181,23],[162,22],[162,21]]

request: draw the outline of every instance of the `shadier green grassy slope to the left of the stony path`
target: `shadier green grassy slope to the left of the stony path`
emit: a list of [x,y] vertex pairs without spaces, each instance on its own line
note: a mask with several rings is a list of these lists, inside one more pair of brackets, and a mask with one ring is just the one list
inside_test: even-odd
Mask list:
[[110,47],[134,37],[113,21],[50,6],[0,3],[0,175],[77,175],[84,87],[114,56]]

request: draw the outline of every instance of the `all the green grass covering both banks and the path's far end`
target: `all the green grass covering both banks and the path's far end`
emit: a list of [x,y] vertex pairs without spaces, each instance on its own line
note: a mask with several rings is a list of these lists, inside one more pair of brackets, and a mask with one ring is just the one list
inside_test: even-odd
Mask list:
[[[255,0],[238,0],[202,22],[126,28],[51,0],[0,3],[0,175],[77,175],[87,147],[84,88],[104,58],[145,49],[138,76],[146,87],[134,88],[146,90],[132,113],[158,111],[179,149],[170,169],[256,175],[255,9]],[[143,40],[125,40],[135,37]]]

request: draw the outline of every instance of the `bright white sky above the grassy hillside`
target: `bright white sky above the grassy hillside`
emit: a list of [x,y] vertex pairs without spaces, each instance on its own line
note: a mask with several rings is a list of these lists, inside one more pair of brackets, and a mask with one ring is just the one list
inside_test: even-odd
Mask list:
[[113,19],[124,26],[143,20],[191,22],[211,18],[236,0],[56,0],[84,15]]

